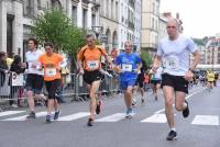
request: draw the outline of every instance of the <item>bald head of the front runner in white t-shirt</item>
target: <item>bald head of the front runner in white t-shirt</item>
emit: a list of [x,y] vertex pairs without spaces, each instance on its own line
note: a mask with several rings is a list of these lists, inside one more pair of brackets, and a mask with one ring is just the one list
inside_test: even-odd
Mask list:
[[169,39],[176,39],[178,37],[178,22],[174,18],[169,18],[166,23],[167,34]]

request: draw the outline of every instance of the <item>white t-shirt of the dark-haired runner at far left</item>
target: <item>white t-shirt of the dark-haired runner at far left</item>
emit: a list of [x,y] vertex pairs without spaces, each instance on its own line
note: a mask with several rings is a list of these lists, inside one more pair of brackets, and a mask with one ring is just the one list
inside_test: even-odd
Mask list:
[[25,59],[26,63],[29,64],[29,68],[26,69],[26,74],[36,74],[36,75],[44,75],[43,71],[40,71],[36,68],[32,68],[32,65],[38,66],[38,57],[43,54],[41,50],[35,50],[35,52],[28,52],[25,54]]

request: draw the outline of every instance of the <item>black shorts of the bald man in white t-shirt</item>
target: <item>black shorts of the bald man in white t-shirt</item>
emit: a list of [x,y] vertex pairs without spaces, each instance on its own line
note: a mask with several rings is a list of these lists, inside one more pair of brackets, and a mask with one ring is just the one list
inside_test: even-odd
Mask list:
[[188,93],[188,81],[182,76],[162,75],[162,88],[163,86],[170,86],[175,91]]

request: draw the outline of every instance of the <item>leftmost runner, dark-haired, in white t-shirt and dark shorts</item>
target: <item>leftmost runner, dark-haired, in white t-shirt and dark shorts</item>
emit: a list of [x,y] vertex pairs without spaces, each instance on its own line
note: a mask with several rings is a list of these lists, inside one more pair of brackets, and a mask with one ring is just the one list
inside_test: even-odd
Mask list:
[[34,111],[34,98],[41,100],[44,98],[42,94],[42,88],[44,86],[43,71],[37,69],[38,57],[43,54],[37,49],[38,42],[35,38],[29,38],[28,46],[29,52],[25,54],[26,60],[26,83],[25,89],[28,92],[28,102],[31,113],[26,118],[35,118]]

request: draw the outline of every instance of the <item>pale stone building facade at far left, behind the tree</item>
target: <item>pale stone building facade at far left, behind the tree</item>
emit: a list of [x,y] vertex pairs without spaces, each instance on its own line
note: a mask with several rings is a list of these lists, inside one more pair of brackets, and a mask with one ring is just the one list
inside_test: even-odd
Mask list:
[[92,31],[99,25],[99,7],[96,0],[0,0],[0,50],[23,56],[26,41],[34,37],[34,19],[52,8],[63,9],[74,25]]

